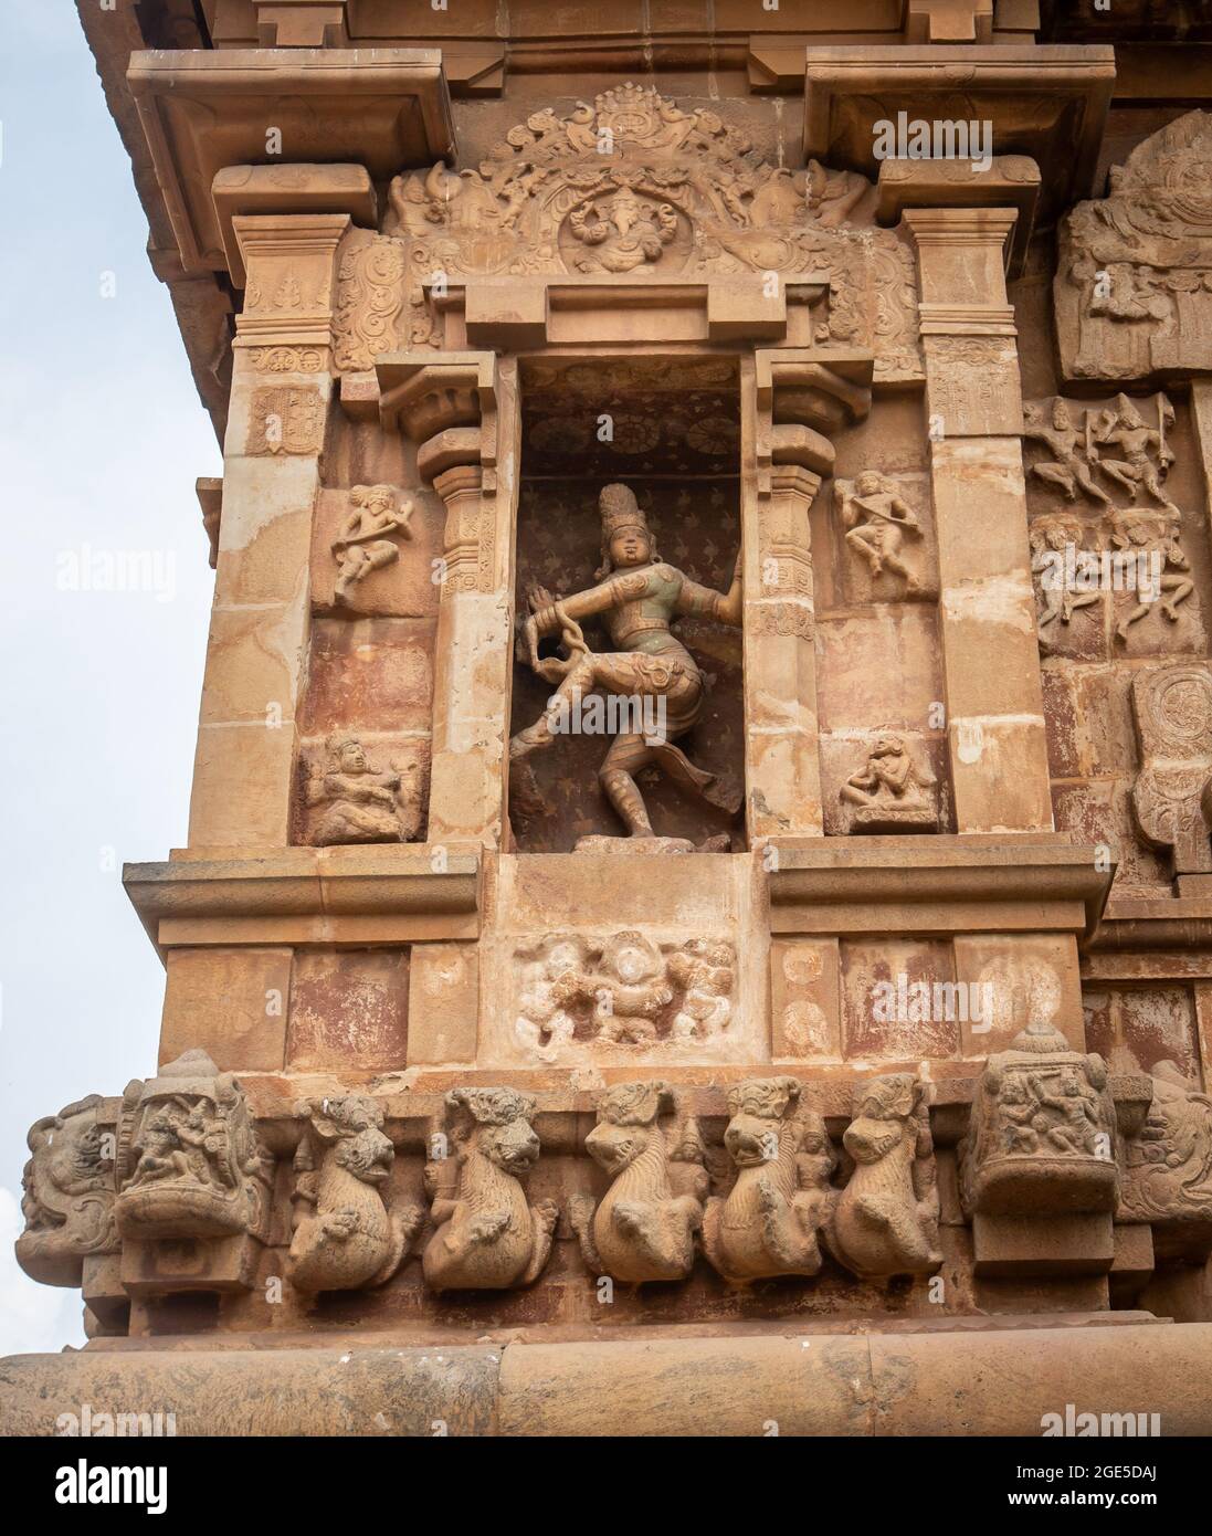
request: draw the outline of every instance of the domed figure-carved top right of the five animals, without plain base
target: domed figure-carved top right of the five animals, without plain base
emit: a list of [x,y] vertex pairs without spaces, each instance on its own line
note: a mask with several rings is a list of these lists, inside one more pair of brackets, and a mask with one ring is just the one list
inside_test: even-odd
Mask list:
[[1115,1106],[1100,1055],[1074,1051],[1049,1023],[991,1055],[960,1143],[971,1215],[1032,1217],[1115,1207]]

